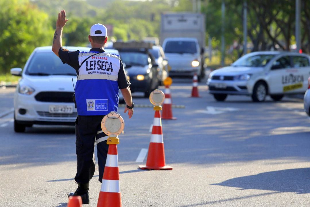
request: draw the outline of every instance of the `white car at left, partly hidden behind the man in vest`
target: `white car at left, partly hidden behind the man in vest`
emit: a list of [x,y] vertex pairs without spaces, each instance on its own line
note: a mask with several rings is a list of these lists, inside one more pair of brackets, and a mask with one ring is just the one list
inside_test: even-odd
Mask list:
[[[66,47],[88,52],[89,47]],[[117,50],[106,50],[118,54]],[[14,95],[14,130],[24,132],[33,124],[74,125],[77,110],[73,102],[76,71],[63,64],[51,47],[37,47],[24,70],[11,69],[21,76]]]

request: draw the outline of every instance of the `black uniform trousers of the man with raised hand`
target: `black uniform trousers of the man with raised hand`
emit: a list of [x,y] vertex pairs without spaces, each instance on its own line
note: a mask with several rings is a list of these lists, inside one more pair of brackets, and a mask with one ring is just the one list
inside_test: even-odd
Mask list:
[[103,171],[108,154],[105,133],[101,129],[101,116],[80,116],[75,121],[76,154],[78,160],[77,174],[74,180],[78,183],[88,183],[95,173],[95,140],[99,165],[99,181],[102,182]]

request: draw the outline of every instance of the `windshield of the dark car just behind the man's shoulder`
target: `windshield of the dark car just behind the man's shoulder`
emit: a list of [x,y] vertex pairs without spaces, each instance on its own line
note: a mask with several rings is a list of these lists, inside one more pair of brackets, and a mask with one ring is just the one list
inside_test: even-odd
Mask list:
[[123,63],[126,67],[130,65],[148,65],[148,55],[142,52],[119,52]]

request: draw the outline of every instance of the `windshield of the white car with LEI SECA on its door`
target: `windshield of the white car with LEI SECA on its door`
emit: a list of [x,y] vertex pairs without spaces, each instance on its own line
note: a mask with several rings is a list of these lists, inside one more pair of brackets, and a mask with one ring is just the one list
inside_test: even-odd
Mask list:
[[253,56],[243,56],[239,58],[232,66],[243,66],[243,67],[262,67],[267,65],[267,63],[275,55],[253,55]]

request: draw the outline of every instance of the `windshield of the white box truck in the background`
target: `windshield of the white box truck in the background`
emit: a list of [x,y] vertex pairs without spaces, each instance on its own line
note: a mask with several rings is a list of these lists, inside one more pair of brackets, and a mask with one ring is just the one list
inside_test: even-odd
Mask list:
[[194,41],[169,41],[165,46],[165,53],[196,53],[197,47]]

